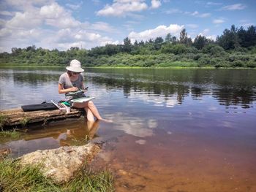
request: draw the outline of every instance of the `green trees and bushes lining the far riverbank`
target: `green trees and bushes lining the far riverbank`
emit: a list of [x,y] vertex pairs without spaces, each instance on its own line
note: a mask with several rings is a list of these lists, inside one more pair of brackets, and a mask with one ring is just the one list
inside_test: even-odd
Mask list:
[[12,47],[0,53],[3,67],[63,67],[73,58],[83,67],[104,68],[256,68],[256,26],[231,26],[216,41],[198,35],[193,41],[184,28],[180,37],[167,34],[146,42],[105,45],[91,50],[70,47],[67,51],[48,50],[34,45]]

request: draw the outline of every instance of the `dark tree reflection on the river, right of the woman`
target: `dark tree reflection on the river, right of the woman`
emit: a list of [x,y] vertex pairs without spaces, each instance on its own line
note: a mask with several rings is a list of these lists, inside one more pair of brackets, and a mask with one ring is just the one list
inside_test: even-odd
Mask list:
[[[127,70],[129,71],[129,70]],[[143,73],[144,72],[144,73]],[[152,69],[129,74],[122,70],[111,72],[102,77],[91,77],[95,84],[105,85],[107,88],[122,88],[124,95],[131,91],[140,92],[147,96],[164,96],[166,99],[177,95],[178,103],[191,93],[192,99],[200,99],[203,95],[212,94],[220,104],[241,104],[248,107],[256,100],[255,71],[243,69],[181,69],[159,70]]]

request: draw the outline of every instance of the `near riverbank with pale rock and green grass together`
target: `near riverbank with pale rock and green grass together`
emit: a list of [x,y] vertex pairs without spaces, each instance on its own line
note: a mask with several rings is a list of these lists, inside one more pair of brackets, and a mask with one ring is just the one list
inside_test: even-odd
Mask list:
[[89,168],[99,150],[99,145],[89,143],[4,158],[0,191],[114,191],[113,174]]

